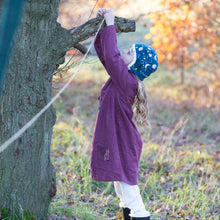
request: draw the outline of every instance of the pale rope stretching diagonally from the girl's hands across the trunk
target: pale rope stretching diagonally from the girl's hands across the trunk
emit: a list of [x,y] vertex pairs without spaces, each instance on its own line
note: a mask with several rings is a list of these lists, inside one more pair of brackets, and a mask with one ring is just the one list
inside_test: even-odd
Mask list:
[[62,89],[60,89],[60,91],[51,99],[51,101],[40,111],[38,112],[27,124],[25,124],[20,130],[18,130],[11,138],[9,138],[7,141],[5,141],[1,146],[0,146],[0,153],[3,152],[11,143],[13,143],[18,137],[20,137],[54,102],[55,100],[60,96],[60,94],[69,86],[69,84],[71,83],[71,81],[73,80],[73,78],[76,76],[76,74],[79,72],[86,56],[88,55],[88,52],[90,51],[95,37],[97,36],[99,30],[101,29],[101,26],[104,22],[104,19],[102,20],[91,44],[89,45],[89,48],[87,50],[87,52],[85,53],[85,55],[83,56],[77,70],[73,73],[73,75],[71,76],[71,78],[69,79],[69,81],[63,86]]

